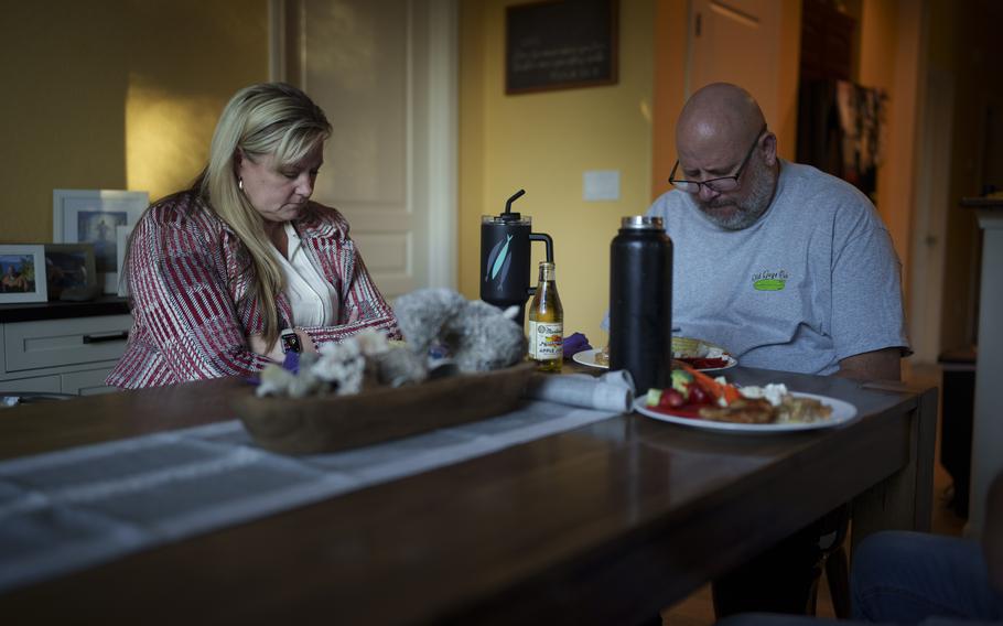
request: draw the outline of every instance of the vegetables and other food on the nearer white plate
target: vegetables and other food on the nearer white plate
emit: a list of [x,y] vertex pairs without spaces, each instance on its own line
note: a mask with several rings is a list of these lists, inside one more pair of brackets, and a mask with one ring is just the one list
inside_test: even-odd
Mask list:
[[672,370],[672,386],[649,389],[645,403],[655,411],[718,422],[745,424],[804,423],[827,420],[832,407],[795,397],[785,385],[737,387],[723,376],[711,378],[687,364]]

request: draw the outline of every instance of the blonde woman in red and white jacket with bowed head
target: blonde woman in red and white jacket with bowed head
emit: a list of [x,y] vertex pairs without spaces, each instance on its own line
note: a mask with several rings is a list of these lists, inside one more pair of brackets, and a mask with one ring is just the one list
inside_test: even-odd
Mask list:
[[123,388],[246,376],[366,328],[399,335],[341,213],[311,202],[331,125],[301,90],[238,91],[205,170],[154,203],[129,244]]

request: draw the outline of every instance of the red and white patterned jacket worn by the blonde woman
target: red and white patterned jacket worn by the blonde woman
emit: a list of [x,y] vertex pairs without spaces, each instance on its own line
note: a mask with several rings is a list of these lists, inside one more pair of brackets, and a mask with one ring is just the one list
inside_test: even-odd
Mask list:
[[[342,214],[311,202],[293,225],[341,299],[337,325],[303,327],[313,343],[337,342],[366,328],[399,337],[397,319],[373,284]],[[269,363],[248,345],[249,335],[263,332],[260,304],[247,296],[250,257],[194,192],[169,196],[142,216],[127,271],[133,323],[108,385],[134,389],[247,376]],[[292,317],[284,293],[277,303],[280,327],[288,327]]]

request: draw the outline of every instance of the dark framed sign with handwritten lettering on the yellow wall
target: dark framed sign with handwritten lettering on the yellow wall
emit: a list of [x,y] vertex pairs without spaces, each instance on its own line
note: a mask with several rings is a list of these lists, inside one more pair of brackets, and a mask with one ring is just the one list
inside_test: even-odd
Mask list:
[[505,15],[505,93],[615,85],[618,0],[513,4]]

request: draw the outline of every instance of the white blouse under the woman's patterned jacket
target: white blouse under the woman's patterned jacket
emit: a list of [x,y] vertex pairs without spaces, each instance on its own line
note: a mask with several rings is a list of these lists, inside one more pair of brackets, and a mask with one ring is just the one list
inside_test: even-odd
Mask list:
[[272,248],[285,277],[285,296],[292,306],[294,326],[334,326],[338,316],[338,294],[334,285],[313,265],[292,224],[285,223],[289,258]]

